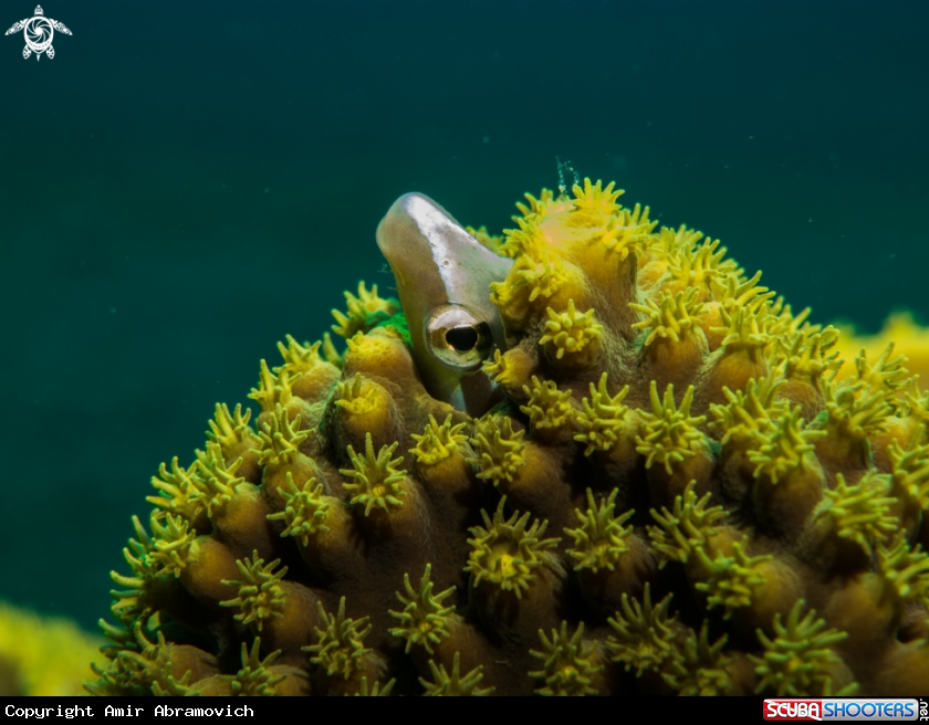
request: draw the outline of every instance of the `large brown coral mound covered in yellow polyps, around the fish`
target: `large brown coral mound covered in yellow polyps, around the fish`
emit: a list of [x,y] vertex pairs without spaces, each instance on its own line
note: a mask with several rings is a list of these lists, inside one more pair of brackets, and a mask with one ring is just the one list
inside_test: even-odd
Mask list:
[[528,195],[507,400],[431,398],[394,301],[262,362],[153,480],[94,694],[914,695],[929,398],[613,185]]

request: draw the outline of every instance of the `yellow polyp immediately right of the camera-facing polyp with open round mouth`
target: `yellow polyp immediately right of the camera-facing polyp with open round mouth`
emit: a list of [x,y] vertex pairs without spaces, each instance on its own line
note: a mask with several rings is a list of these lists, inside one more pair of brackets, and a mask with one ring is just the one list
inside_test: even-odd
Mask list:
[[564,533],[574,539],[574,547],[567,549],[566,554],[576,560],[575,569],[599,569],[614,570],[619,560],[629,547],[626,545],[626,537],[631,534],[631,526],[623,526],[635,511],[627,511],[617,516],[616,494],[613,492],[599,504],[594,501],[594,492],[587,488],[587,509],[582,512],[575,509],[581,526],[577,528],[565,528]]

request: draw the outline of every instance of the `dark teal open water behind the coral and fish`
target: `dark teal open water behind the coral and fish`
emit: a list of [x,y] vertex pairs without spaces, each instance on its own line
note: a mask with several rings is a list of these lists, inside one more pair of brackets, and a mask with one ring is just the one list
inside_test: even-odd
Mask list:
[[929,317],[929,3],[44,10],[53,60],[0,36],[0,598],[107,613],[158,464],[276,340],[390,284],[405,191],[500,230],[560,156],[820,322]]

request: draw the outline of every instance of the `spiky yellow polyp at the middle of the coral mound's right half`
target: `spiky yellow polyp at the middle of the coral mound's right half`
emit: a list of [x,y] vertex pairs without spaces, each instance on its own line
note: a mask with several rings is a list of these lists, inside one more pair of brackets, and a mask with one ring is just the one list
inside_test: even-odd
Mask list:
[[699,427],[707,422],[707,417],[690,414],[693,386],[687,388],[679,408],[675,404],[675,387],[671,383],[665,389],[662,401],[653,380],[649,396],[651,412],[643,413],[643,434],[636,438],[636,450],[646,456],[646,467],[656,462],[662,463],[671,475],[675,464],[697,455],[695,448],[704,438]]

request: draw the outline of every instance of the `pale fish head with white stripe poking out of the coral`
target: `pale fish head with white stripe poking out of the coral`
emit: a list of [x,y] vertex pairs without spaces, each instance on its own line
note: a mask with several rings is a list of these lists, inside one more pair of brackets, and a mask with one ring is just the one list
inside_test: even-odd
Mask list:
[[504,399],[481,364],[507,350],[490,285],[502,282],[513,260],[469,234],[424,193],[405,193],[377,225],[409,326],[413,358],[429,393],[469,416]]

